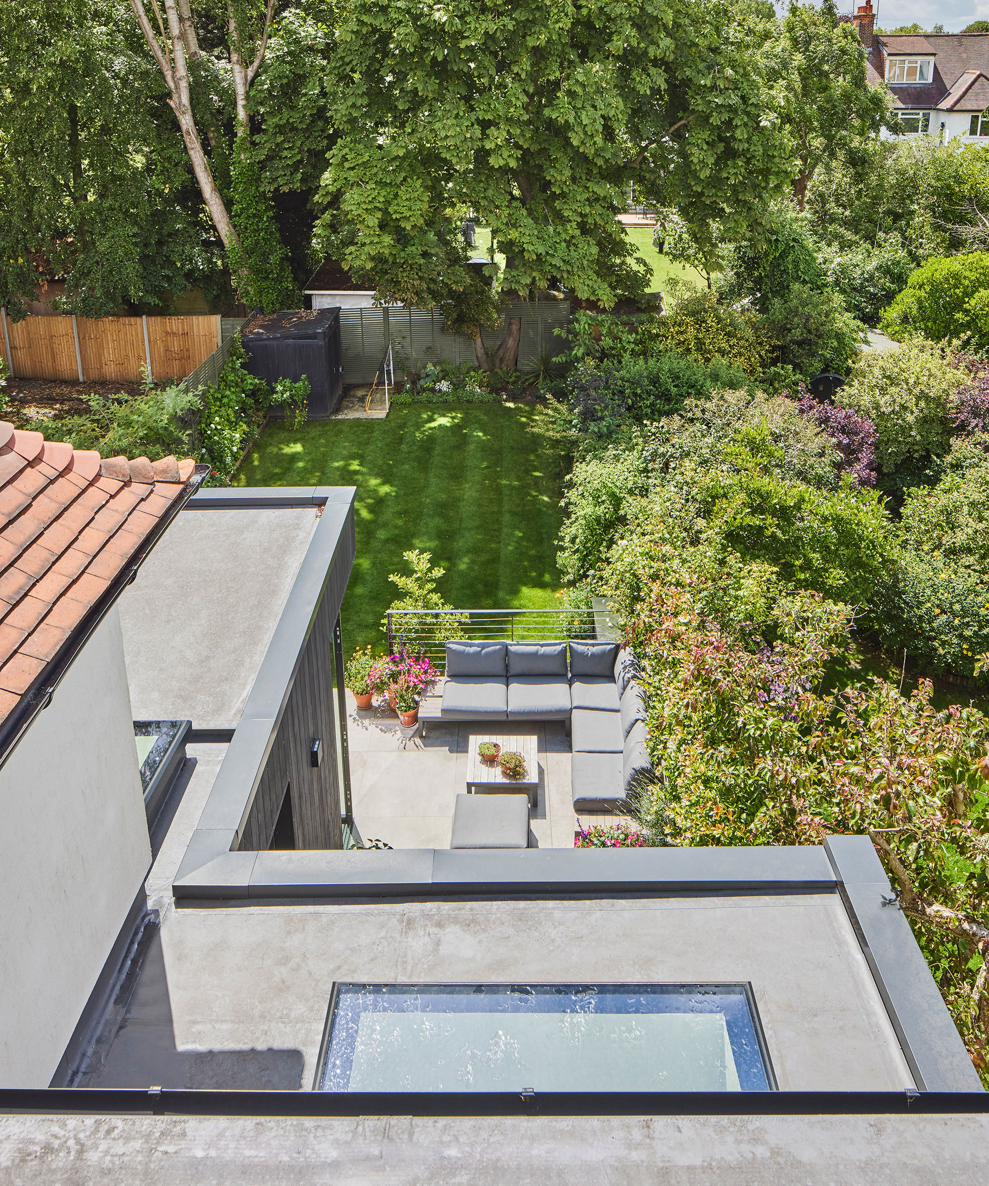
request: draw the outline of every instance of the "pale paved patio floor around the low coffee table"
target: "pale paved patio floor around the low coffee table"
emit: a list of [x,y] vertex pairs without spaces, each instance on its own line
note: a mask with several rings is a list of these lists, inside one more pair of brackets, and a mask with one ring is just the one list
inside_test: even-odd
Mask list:
[[[406,740],[387,709],[355,707],[347,693],[347,729],[354,823],[361,839],[392,848],[448,848],[458,792],[467,789],[469,739],[492,726],[430,722]],[[519,725],[534,735],[539,790],[531,815],[531,848],[572,848],[578,827],[570,791],[570,739],[563,721]],[[617,816],[582,815],[581,822],[614,823]]]

